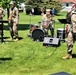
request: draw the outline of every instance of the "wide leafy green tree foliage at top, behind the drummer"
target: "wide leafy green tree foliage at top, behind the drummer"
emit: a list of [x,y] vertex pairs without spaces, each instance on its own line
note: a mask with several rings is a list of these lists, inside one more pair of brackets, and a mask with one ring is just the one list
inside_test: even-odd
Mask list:
[[58,13],[61,8],[58,0],[24,0],[24,2],[27,5],[26,9],[28,9],[28,6],[30,6],[28,10],[31,10],[31,8],[39,8],[39,10],[41,8],[55,8],[56,13]]

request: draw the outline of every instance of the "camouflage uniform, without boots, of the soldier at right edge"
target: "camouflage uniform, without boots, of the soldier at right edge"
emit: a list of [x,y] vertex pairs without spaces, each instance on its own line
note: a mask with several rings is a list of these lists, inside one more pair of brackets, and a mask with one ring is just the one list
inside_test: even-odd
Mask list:
[[72,54],[73,43],[76,40],[76,13],[71,16],[71,28],[68,34],[68,53]]

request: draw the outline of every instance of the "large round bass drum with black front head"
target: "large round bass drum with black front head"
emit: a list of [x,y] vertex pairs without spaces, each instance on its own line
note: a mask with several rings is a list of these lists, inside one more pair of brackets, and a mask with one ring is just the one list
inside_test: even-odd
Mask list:
[[32,38],[34,41],[43,41],[44,40],[44,32],[41,29],[35,29],[32,32]]

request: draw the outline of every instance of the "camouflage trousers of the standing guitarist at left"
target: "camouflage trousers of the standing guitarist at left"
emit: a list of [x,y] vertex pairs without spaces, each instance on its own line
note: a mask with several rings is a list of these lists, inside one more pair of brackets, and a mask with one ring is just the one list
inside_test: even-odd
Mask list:
[[10,22],[9,29],[11,37],[13,38],[15,36],[15,38],[18,38],[18,24],[16,24],[15,22]]

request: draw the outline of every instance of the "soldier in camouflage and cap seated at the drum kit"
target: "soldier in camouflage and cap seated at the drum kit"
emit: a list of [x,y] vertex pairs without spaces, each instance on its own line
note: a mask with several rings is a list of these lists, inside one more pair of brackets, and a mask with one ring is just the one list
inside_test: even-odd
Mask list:
[[46,10],[46,14],[42,16],[42,28],[44,31],[45,36],[48,35],[48,30],[50,29],[51,36],[54,37],[54,28],[52,26],[53,18],[50,14],[50,9]]

